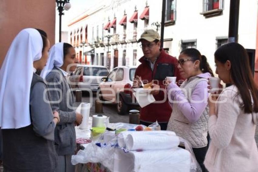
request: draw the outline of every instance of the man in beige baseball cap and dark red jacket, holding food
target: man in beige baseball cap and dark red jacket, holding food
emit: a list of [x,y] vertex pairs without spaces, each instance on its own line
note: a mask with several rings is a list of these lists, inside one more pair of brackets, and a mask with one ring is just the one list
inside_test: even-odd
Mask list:
[[[140,46],[144,56],[140,58],[141,64],[135,71],[133,87],[142,87],[141,80],[144,84],[152,82],[151,94],[156,100],[141,108],[140,123],[148,126],[157,120],[161,129],[166,130],[172,108],[168,103],[164,80],[169,76],[176,76],[177,83],[184,79],[181,78],[176,66],[177,59],[168,55],[163,49],[160,50],[161,43],[158,32],[153,29],[145,30],[138,42],[141,42]],[[157,101],[161,102],[157,103]]]

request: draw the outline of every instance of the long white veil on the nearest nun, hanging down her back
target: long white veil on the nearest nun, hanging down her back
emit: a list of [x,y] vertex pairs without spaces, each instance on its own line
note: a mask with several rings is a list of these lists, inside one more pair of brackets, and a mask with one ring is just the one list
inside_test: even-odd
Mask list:
[[0,69],[0,126],[17,129],[31,124],[29,112],[33,61],[42,57],[42,37],[23,29],[12,41]]

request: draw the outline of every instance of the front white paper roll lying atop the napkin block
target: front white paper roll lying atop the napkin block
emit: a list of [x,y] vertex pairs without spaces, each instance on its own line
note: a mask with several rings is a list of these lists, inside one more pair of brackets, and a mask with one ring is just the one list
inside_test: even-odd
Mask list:
[[177,147],[178,136],[172,131],[137,131],[128,133],[125,139],[127,150],[160,150]]

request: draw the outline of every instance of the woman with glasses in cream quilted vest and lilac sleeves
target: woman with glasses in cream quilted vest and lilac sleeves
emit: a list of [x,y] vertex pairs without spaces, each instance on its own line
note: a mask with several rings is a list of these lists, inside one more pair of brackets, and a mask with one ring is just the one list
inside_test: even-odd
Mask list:
[[173,112],[167,130],[191,144],[196,160],[202,171],[206,171],[203,161],[207,152],[207,132],[209,119],[208,78],[213,76],[205,56],[194,49],[183,50],[178,58],[179,73],[187,78],[180,86],[166,81],[167,93]]

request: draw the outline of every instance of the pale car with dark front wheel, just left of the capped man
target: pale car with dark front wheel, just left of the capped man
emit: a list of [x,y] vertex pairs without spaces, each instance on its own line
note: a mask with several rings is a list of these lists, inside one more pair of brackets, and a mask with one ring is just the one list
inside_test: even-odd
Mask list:
[[100,83],[100,100],[116,103],[120,115],[127,114],[132,108],[139,108],[131,92],[135,70],[136,66],[116,67],[107,77],[103,77],[103,82]]

